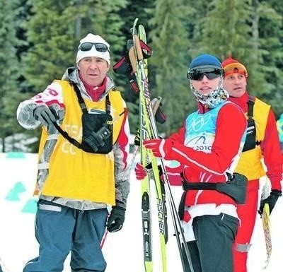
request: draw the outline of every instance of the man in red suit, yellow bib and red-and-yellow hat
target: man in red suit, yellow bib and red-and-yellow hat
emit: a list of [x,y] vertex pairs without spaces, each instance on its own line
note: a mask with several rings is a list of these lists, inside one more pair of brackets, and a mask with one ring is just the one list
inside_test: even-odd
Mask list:
[[[270,213],[282,195],[282,155],[276,128],[275,114],[270,105],[257,97],[251,97],[246,90],[248,71],[236,59],[229,57],[222,62],[224,69],[224,88],[229,92],[229,100],[235,102],[246,113],[248,122],[246,143],[235,172],[248,178],[248,194],[245,205],[237,208],[241,225],[234,242],[234,272],[247,271],[248,249],[255,226],[258,210],[259,179],[267,175],[271,182],[271,193],[261,201],[259,213],[264,203],[270,206]],[[262,165],[264,160],[265,167]]]

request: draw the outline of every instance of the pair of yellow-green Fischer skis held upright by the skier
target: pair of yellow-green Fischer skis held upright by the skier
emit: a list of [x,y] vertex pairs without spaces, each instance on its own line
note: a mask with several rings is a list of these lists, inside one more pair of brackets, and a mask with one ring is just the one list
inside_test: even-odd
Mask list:
[[[156,191],[156,202],[157,202],[157,214],[158,214],[158,227],[159,227],[159,241],[161,247],[161,261],[162,261],[162,271],[167,271],[166,264],[166,217],[165,208],[162,196],[161,183],[159,178],[159,170],[156,162],[156,158],[151,153],[151,151],[146,150],[143,146],[143,141],[149,138],[153,138],[151,131],[151,126],[149,124],[149,112],[154,117],[154,112],[151,107],[151,100],[148,90],[148,71],[147,71],[147,61],[143,57],[143,52],[140,45],[140,40],[146,42],[146,33],[144,27],[139,25],[137,28],[137,21],[134,20],[132,27],[132,40],[133,47],[129,50],[129,59],[132,64],[135,76],[137,78],[137,83],[139,86],[139,133],[140,133],[140,154],[141,154],[141,165],[146,167],[149,162],[152,165],[152,173],[147,175],[141,181],[141,218],[143,227],[143,238],[144,238],[144,268],[146,272],[151,272],[153,270],[152,265],[152,226],[151,226],[151,189],[150,180],[154,180],[154,187]],[[146,102],[148,107],[146,107]]]

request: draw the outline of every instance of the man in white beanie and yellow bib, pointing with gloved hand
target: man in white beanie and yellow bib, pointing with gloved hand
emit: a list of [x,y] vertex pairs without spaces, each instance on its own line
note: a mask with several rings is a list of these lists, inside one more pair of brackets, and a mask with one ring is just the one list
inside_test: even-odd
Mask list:
[[62,271],[69,253],[71,271],[105,271],[103,235],[122,228],[129,194],[127,110],[109,69],[108,42],[89,33],[79,42],[76,67],[18,106],[21,126],[42,127],[35,188],[40,248],[24,272]]

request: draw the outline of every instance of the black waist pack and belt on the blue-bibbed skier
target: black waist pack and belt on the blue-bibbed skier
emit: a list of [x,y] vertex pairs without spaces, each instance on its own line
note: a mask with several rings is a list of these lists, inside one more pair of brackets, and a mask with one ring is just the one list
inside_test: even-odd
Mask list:
[[246,176],[234,173],[227,182],[187,182],[182,181],[184,191],[190,190],[215,190],[230,196],[238,204],[246,203],[247,183]]

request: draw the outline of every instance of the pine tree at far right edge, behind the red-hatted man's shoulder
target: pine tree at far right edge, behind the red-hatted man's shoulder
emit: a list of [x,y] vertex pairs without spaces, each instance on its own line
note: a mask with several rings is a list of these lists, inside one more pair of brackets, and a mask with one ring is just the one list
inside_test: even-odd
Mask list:
[[[264,73],[267,88],[261,90],[263,100],[272,105],[277,118],[283,112],[283,7],[276,1],[260,1],[258,4],[258,32],[264,49],[260,69]],[[256,74],[254,75],[256,78]]]

